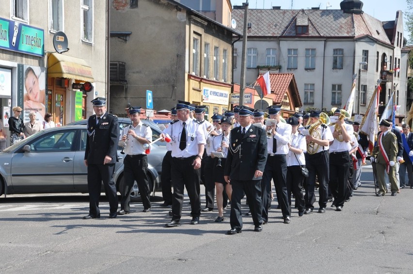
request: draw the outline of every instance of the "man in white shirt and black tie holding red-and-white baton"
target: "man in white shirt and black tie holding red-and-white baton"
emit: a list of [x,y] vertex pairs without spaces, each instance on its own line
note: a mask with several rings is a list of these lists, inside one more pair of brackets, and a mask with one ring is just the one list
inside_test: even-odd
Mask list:
[[[201,214],[200,168],[204,154],[205,134],[199,121],[190,119],[190,103],[178,101],[176,105],[179,121],[163,130],[165,137],[172,139],[172,185],[174,194],[172,201],[172,220],[165,225],[167,228],[181,225],[184,187],[187,189],[191,202],[191,225],[199,224]],[[176,126],[175,126],[176,125]]]

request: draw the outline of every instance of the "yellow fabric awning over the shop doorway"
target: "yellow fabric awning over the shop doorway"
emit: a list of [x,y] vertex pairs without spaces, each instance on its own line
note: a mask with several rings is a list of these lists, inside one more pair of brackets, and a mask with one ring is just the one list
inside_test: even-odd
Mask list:
[[83,59],[60,53],[48,56],[48,77],[63,77],[94,82],[92,68]]

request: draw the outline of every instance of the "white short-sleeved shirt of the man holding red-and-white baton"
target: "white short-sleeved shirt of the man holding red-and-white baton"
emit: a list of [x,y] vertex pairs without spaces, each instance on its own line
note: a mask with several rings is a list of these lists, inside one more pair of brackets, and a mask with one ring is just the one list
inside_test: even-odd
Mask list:
[[188,158],[198,154],[198,144],[206,144],[205,133],[202,126],[199,126],[198,122],[192,119],[185,121],[186,130],[186,148],[181,151],[179,148],[179,141],[181,139],[182,129],[184,128],[183,122],[179,120],[174,123],[174,126],[170,126],[163,130],[163,133],[171,138],[172,143],[172,157],[184,157]]

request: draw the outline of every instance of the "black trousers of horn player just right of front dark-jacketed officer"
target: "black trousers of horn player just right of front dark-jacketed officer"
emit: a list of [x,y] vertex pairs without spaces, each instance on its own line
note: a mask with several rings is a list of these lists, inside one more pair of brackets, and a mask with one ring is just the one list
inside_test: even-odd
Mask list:
[[[274,181],[278,204],[283,217],[291,215],[287,194],[287,162],[285,154],[268,155],[261,181],[262,219],[268,221],[268,207],[271,197],[271,179]],[[249,200],[248,200],[249,202]]]

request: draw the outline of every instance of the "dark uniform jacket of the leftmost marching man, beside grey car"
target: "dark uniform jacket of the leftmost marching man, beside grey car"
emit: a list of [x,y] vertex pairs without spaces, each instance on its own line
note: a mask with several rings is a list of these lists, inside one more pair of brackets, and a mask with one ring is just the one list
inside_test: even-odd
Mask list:
[[87,121],[87,131],[85,160],[87,159],[88,164],[103,164],[106,155],[112,158],[110,164],[116,163],[119,142],[118,118],[106,112],[96,124],[96,115],[92,115]]

